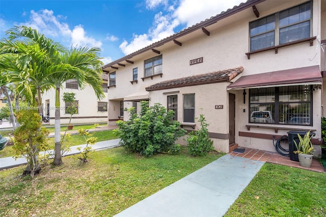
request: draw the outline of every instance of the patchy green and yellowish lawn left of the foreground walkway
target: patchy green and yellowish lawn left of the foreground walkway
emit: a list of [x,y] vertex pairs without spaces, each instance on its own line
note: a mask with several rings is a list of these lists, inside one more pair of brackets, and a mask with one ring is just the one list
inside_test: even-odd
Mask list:
[[221,156],[192,157],[183,147],[144,157],[119,147],[92,152],[84,165],[64,157],[34,179],[20,176],[24,166],[3,170],[0,216],[112,216]]

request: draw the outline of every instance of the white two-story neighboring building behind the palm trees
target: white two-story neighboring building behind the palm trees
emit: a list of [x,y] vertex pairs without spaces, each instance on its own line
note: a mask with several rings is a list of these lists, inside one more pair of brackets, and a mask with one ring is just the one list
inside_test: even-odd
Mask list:
[[[66,114],[68,104],[62,99],[63,93],[75,93],[78,104],[78,114],[72,116],[71,123],[99,123],[107,122],[107,74],[102,74],[103,91],[105,98],[98,100],[94,90],[87,86],[85,89],[78,88],[77,80],[67,80],[60,90],[61,124],[69,122],[70,114]],[[50,117],[50,124],[55,124],[55,97],[56,91],[51,89],[42,95],[43,115]]]

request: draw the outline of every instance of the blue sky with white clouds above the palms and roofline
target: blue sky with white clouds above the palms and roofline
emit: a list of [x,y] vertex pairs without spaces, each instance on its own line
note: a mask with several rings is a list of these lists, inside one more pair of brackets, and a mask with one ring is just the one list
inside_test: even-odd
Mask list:
[[0,0],[0,38],[31,26],[69,46],[101,48],[104,64],[246,0]]

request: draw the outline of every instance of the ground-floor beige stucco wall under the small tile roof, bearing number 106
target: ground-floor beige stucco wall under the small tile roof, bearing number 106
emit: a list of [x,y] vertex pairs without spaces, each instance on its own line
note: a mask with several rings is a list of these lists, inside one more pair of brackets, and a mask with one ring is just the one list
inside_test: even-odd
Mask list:
[[[226,87],[228,83],[208,84],[201,86],[191,86],[174,88],[168,90],[151,91],[150,106],[154,103],[161,103],[167,107],[167,98],[170,95],[178,96],[178,121],[183,122],[183,94],[195,94],[195,130],[200,129],[198,122],[200,114],[206,118],[209,124],[208,131],[213,133],[228,134],[229,116],[228,116],[228,93]],[[179,91],[179,93],[169,93]],[[223,109],[215,109],[215,105],[223,105]],[[192,130],[190,126],[183,126],[184,129]],[[213,139],[213,146],[216,150],[228,152],[229,140]],[[180,144],[186,144],[183,140],[178,141]]]

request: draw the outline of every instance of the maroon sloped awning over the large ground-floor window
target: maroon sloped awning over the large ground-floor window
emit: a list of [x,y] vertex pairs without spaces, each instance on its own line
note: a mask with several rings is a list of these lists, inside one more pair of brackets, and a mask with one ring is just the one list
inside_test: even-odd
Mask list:
[[308,66],[242,76],[229,85],[227,90],[321,84],[319,66]]

